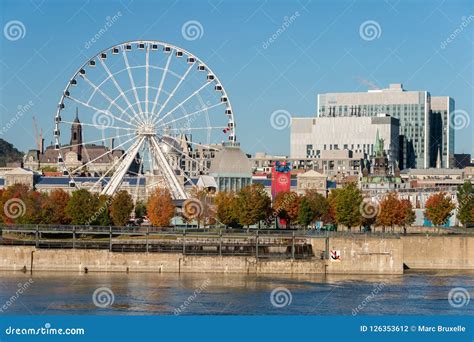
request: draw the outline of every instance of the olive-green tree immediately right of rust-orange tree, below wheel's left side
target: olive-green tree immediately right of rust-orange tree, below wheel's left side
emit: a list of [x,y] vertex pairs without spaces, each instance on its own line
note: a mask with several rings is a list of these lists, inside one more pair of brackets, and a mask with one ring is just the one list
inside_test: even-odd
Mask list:
[[66,215],[71,218],[72,224],[93,225],[100,215],[99,198],[86,189],[76,190],[66,206]]

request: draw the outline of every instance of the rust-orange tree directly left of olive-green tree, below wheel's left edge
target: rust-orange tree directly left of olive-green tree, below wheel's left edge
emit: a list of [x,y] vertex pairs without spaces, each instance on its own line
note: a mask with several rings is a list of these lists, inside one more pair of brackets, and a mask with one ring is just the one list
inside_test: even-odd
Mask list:
[[71,218],[66,208],[71,196],[62,189],[55,189],[45,196],[42,203],[42,222],[47,224],[69,224]]

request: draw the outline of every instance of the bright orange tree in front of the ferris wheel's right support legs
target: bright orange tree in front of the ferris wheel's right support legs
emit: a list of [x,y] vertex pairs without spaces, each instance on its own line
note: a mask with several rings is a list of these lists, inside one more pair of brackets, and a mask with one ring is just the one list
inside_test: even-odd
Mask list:
[[148,199],[146,210],[148,218],[154,226],[169,226],[175,213],[175,206],[169,190],[156,188]]

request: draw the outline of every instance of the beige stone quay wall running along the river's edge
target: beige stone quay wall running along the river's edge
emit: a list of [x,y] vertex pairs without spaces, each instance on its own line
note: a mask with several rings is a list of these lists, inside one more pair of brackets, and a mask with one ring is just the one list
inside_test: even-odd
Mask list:
[[0,246],[0,270],[359,275],[474,270],[473,236],[318,237],[307,243],[314,255],[307,259]]

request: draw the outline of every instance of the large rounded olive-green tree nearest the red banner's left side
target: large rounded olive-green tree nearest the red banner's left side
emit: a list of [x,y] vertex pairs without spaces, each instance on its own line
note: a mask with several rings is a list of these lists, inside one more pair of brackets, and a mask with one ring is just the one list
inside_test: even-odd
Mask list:
[[242,188],[235,198],[239,223],[249,227],[267,218],[271,213],[271,200],[262,184]]

